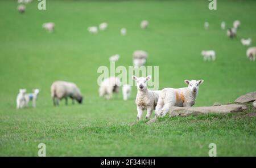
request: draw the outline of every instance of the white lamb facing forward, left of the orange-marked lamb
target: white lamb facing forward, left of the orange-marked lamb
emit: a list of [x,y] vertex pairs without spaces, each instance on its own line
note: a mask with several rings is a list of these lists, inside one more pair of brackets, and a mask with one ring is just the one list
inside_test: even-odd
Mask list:
[[147,88],[147,81],[151,79],[150,75],[147,77],[133,75],[132,77],[137,82],[137,96],[135,101],[137,105],[137,121],[141,120],[143,110],[147,110],[146,119],[148,119],[155,109],[160,91],[150,91]]

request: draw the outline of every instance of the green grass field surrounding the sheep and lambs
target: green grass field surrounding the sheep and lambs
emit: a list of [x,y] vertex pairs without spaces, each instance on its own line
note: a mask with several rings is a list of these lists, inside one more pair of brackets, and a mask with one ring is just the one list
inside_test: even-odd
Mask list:
[[[131,66],[134,50],[149,54],[146,66],[159,66],[159,89],[185,87],[184,79],[204,79],[195,106],[233,102],[256,90],[256,62],[246,58],[241,38],[256,45],[256,1],[38,1],[24,14],[17,2],[0,1],[0,156],[37,156],[45,143],[47,156],[256,156],[255,110],[229,115],[199,115],[137,124],[136,88],[129,101],[98,96],[97,68]],[[150,21],[146,30],[141,20]],[[241,21],[237,38],[220,28]],[[55,32],[42,24],[53,21]],[[106,21],[104,32],[87,27]],[[204,21],[210,23],[204,29]],[[119,31],[127,28],[127,35]],[[201,50],[216,50],[215,62],[204,62]],[[154,77],[153,77],[154,78]],[[75,82],[82,105],[53,107],[50,86],[55,80]],[[36,109],[15,109],[19,88],[40,89]],[[145,114],[143,115],[145,116]],[[153,117],[153,115],[152,115]]]

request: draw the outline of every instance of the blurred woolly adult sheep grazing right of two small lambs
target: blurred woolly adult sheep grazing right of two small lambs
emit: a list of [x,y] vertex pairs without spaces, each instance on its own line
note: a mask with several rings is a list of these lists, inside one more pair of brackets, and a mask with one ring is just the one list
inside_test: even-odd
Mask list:
[[72,99],[72,104],[75,104],[74,99],[81,104],[82,94],[75,83],[68,81],[54,81],[51,85],[51,97],[54,106],[59,106],[59,100],[65,98],[65,104],[68,105],[68,97]]

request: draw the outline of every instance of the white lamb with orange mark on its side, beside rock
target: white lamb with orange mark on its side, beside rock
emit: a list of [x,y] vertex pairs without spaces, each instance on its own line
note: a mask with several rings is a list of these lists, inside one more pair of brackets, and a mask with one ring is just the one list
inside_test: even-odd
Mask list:
[[155,108],[155,117],[163,117],[172,106],[191,107],[195,104],[196,97],[199,91],[199,85],[204,80],[184,80],[188,84],[186,88],[164,88],[158,99],[158,104]]

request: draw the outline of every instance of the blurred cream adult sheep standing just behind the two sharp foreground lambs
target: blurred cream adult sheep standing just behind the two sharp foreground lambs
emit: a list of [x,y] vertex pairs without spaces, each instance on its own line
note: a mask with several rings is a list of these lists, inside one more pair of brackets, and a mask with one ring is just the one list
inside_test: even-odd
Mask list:
[[109,77],[102,81],[98,92],[100,97],[105,97],[107,100],[112,98],[113,93],[119,92],[119,87],[121,86],[121,81],[118,77]]

